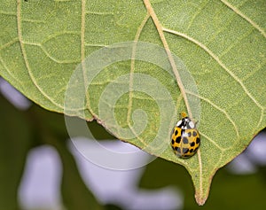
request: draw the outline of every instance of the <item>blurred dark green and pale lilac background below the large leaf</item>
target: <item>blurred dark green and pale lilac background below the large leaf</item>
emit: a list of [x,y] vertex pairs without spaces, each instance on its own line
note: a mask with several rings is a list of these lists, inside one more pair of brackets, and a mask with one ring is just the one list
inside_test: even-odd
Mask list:
[[[95,121],[88,126],[97,144],[78,131],[70,140],[63,114],[35,105],[2,78],[0,114],[0,210],[266,206],[265,129],[245,152],[218,170],[206,204],[198,206],[184,167],[116,140]],[[73,119],[77,124],[82,121]],[[88,158],[90,154],[93,157]],[[122,164],[134,169],[123,168]]]

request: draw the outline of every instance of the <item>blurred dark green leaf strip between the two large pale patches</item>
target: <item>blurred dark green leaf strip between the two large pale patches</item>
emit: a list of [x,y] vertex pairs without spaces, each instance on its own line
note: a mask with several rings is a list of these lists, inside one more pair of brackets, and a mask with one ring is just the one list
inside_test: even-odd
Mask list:
[[43,139],[42,143],[51,144],[59,152],[63,168],[61,193],[66,209],[102,209],[82,181],[74,157],[66,146],[67,130],[64,115],[51,113],[38,106],[32,107],[28,112],[35,119],[35,128],[39,132],[39,137]]

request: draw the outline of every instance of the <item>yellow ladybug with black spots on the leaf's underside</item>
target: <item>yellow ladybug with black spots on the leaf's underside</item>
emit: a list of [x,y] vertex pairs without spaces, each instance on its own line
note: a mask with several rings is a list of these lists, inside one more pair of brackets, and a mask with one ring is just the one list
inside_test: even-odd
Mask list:
[[179,158],[192,157],[200,147],[200,133],[196,123],[186,113],[181,113],[182,120],[177,121],[172,132],[171,146]]

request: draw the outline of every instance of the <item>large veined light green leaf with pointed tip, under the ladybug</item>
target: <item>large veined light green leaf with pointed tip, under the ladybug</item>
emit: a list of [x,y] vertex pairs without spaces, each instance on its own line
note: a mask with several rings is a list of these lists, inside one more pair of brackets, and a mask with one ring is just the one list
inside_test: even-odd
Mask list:
[[[6,80],[46,109],[93,116],[121,140],[183,165],[200,205],[215,171],[265,128],[263,0],[18,0],[0,8]],[[128,41],[166,51],[147,43],[97,51]],[[199,121],[200,151],[191,159],[169,146],[184,111]]]

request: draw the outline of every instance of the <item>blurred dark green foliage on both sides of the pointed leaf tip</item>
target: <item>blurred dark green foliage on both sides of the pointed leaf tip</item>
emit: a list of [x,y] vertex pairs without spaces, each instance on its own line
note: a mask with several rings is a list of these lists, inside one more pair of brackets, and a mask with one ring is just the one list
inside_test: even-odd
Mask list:
[[[224,167],[215,175],[205,210],[256,209],[266,205],[266,167],[258,167],[251,175],[232,175]],[[184,167],[175,166],[163,159],[150,163],[139,183],[140,188],[158,189],[176,186],[184,197],[184,210],[200,210],[192,198],[192,182]]]

